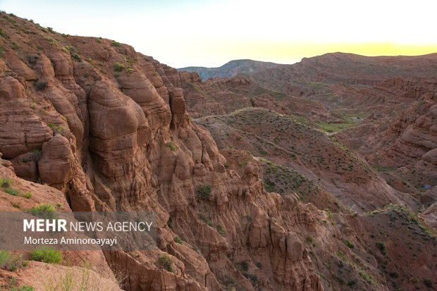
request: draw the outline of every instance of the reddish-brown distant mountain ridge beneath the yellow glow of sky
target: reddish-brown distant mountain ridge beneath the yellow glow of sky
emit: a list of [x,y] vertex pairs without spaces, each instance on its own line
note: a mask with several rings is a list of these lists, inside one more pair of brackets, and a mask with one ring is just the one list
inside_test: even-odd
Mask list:
[[[269,89],[296,94],[295,87],[323,87],[343,82],[375,85],[390,78],[429,78],[437,75],[437,54],[423,56],[360,56],[330,53],[302,58],[293,65],[259,70],[252,80]],[[324,84],[321,84],[324,83]]]

